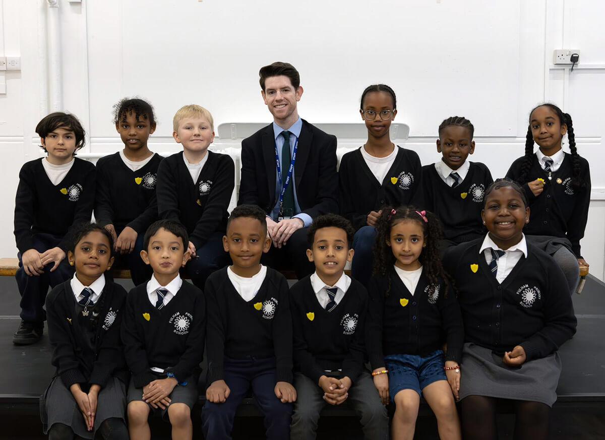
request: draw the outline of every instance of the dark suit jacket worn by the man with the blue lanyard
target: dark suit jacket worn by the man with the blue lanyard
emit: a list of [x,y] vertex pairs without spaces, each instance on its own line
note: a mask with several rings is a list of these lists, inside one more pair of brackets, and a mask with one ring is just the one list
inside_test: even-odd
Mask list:
[[[296,199],[301,213],[311,218],[338,213],[336,136],[302,120],[294,165]],[[275,134],[273,124],[241,142],[241,179],[238,205],[258,205],[268,215],[275,207]]]

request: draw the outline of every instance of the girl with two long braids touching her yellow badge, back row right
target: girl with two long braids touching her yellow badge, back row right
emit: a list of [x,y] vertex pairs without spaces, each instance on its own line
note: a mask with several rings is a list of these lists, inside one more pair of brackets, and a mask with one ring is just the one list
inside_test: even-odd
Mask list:
[[[571,154],[561,149],[565,134]],[[539,146],[535,154],[534,142]],[[574,293],[579,266],[588,266],[580,240],[590,204],[590,169],[575,146],[571,116],[554,104],[532,109],[525,155],[512,163],[506,177],[520,184],[528,199],[532,212],[524,230],[528,241],[554,257]]]

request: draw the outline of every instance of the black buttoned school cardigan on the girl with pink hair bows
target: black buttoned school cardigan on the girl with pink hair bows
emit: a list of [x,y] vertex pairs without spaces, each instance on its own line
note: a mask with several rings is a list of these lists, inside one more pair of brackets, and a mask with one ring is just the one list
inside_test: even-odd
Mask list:
[[425,357],[443,342],[445,360],[460,361],[464,334],[456,295],[450,287],[445,298],[443,283],[430,294],[430,286],[423,271],[412,295],[392,267],[387,276],[370,279],[366,346],[372,369],[384,367],[385,355]]

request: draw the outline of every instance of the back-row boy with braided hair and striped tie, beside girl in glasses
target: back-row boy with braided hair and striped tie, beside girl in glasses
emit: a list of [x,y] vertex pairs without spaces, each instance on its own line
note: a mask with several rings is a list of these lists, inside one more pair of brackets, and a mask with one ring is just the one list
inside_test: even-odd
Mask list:
[[488,167],[466,159],[475,151],[474,127],[464,117],[453,116],[439,126],[440,161],[422,167],[424,207],[443,225],[442,251],[484,235],[481,222],[483,195],[494,181]]

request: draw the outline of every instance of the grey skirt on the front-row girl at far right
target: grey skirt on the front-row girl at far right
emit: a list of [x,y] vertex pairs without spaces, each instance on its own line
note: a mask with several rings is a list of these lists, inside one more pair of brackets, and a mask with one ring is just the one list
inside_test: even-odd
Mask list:
[[548,406],[557,401],[561,360],[557,352],[519,367],[503,363],[500,355],[473,343],[462,349],[460,399],[479,395],[526,400]]

